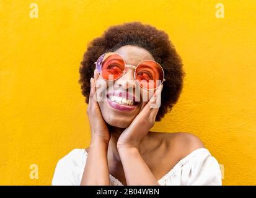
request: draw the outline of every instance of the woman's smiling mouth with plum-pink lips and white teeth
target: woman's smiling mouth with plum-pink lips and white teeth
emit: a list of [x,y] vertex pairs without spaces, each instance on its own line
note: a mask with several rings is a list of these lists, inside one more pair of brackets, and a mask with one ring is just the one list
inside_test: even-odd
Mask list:
[[139,105],[139,99],[135,95],[122,90],[107,93],[108,104],[120,111],[131,111]]

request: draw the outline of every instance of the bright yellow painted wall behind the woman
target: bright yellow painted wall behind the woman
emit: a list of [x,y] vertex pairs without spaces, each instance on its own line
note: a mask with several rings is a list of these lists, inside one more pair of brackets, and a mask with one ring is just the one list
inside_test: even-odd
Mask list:
[[169,33],[187,72],[154,130],[196,134],[224,165],[224,185],[256,184],[255,13],[254,0],[1,0],[0,184],[51,184],[56,162],[87,147],[79,62],[105,28],[134,20]]

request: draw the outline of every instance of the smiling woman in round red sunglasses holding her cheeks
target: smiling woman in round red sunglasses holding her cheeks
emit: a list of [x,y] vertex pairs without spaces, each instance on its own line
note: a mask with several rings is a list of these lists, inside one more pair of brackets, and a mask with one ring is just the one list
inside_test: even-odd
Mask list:
[[79,72],[90,146],[58,161],[53,185],[221,185],[218,161],[198,137],[149,131],[183,85],[167,33],[140,22],[110,27],[90,43]]

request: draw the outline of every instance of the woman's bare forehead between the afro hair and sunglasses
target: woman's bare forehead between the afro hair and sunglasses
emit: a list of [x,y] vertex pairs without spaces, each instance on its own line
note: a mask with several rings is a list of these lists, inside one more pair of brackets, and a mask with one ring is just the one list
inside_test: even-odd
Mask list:
[[140,48],[138,46],[126,45],[115,51],[120,54],[124,59],[126,64],[136,65],[141,61],[152,60],[154,61],[153,56],[149,53],[148,50]]

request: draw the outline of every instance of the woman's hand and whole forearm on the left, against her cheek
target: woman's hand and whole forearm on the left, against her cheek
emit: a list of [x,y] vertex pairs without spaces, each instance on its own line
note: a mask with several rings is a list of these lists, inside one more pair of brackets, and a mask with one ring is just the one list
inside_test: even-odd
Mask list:
[[110,184],[107,160],[110,134],[97,102],[97,79],[97,72],[94,71],[94,78],[90,79],[90,96],[86,110],[90,123],[90,147],[81,186],[109,186]]

